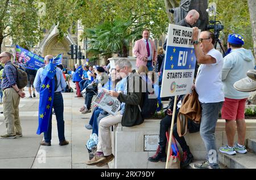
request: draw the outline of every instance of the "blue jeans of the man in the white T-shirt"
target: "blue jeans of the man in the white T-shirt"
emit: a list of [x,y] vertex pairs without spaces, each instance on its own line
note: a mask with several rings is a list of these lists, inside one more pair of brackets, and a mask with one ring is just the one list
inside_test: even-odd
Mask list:
[[218,151],[215,141],[215,127],[218,120],[218,113],[222,108],[223,102],[201,103],[201,125],[200,135],[204,141],[205,149],[207,150],[207,160],[210,165],[218,164]]

